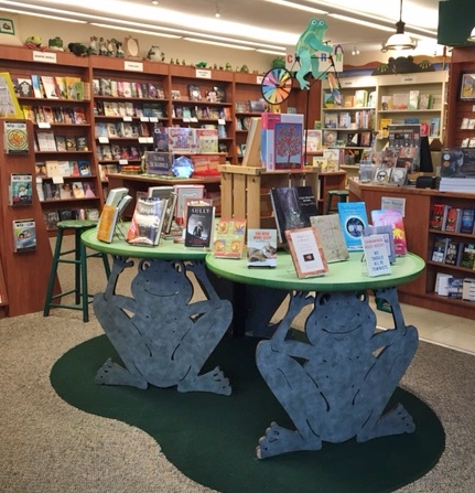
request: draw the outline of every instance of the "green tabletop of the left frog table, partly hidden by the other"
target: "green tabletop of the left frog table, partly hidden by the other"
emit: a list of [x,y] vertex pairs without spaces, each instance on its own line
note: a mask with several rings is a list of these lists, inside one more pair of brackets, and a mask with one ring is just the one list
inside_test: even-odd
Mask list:
[[[120,227],[120,226],[119,226]],[[123,233],[127,233],[128,225],[123,225]],[[173,243],[173,239],[161,239],[156,246],[129,245],[125,239],[114,237],[112,243],[105,243],[97,239],[97,228],[88,229],[80,235],[83,243],[93,250],[104,254],[120,255],[132,258],[159,258],[162,260],[204,260],[208,250],[202,248],[186,248],[181,243]]]

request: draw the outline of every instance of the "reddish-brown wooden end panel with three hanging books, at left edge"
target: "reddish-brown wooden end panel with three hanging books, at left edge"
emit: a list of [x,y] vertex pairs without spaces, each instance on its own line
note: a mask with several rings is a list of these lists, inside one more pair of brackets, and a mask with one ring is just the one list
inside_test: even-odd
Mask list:
[[[29,152],[24,154],[8,154],[4,149],[6,121],[25,121],[13,118],[0,118],[0,258],[3,270],[3,283],[0,279],[2,304],[4,314],[18,317],[43,310],[44,297],[50,276],[53,254],[44,223],[43,212],[37,197],[34,181],[34,138],[33,125],[26,120],[29,133]],[[33,201],[32,205],[9,205],[9,184],[11,173],[32,173]],[[13,229],[14,219],[32,218],[36,227],[36,248],[31,251],[14,253]],[[60,292],[56,280],[55,292]],[[7,301],[7,304],[3,304]]]

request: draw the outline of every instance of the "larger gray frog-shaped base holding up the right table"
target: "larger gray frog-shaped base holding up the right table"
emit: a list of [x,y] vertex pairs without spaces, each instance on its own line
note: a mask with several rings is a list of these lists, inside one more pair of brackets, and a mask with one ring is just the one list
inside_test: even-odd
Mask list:
[[[385,408],[418,347],[418,331],[406,325],[397,289],[376,291],[392,311],[395,329],[377,332],[367,293],[295,292],[256,361],[266,383],[295,430],[272,422],[259,440],[259,459],[298,450],[320,450],[323,441],[358,442],[410,433],[407,410]],[[313,303],[305,321],[307,342],[288,339],[300,310]]]

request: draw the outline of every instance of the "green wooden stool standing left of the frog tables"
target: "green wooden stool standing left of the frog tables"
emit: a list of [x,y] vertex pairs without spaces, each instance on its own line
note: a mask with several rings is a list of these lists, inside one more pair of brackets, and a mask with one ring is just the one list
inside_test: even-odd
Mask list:
[[[106,270],[107,279],[110,276],[110,267],[109,260],[107,259],[106,254],[101,254],[99,251],[95,251],[94,254],[87,254],[86,247],[80,240],[80,235],[91,227],[96,227],[97,223],[94,221],[61,221],[57,223],[57,235],[56,235],[56,246],[53,255],[53,265],[51,267],[50,280],[47,283],[46,291],[46,300],[44,302],[43,315],[50,315],[51,308],[68,308],[72,310],[82,310],[83,311],[83,321],[89,321],[89,298],[93,294],[89,294],[87,291],[87,259],[90,257],[100,257],[102,258],[104,268]],[[74,229],[75,235],[75,247],[69,250],[62,251],[63,245],[63,236],[64,232],[67,229]],[[74,254],[74,258],[62,258],[66,255]],[[75,285],[74,289],[68,291],[63,291],[58,294],[53,294],[54,285],[56,280],[57,266],[60,262],[64,264],[74,264],[75,265]],[[66,304],[54,302],[57,298],[65,297],[67,294],[75,294],[75,304]]]

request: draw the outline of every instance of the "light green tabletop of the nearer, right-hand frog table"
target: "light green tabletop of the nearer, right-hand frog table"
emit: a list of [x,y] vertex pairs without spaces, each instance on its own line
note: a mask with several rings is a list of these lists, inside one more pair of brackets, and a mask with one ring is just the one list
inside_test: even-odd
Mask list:
[[247,267],[247,259],[238,260],[206,256],[208,269],[225,279],[246,285],[300,291],[354,291],[364,289],[392,288],[418,278],[425,264],[414,254],[398,257],[391,265],[391,274],[369,277],[364,274],[363,253],[349,254],[345,261],[328,264],[328,271],[323,276],[298,278],[292,257],[279,253],[276,268]]

